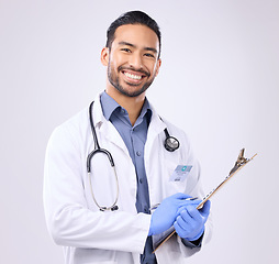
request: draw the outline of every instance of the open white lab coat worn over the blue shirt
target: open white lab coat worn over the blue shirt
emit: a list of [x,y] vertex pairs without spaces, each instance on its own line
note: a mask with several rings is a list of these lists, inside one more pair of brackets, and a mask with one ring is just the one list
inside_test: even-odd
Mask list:
[[[46,223],[54,241],[64,246],[67,264],[140,263],[149,230],[150,216],[136,212],[136,174],[125,143],[102,114],[99,97],[93,105],[93,120],[100,146],[111,152],[119,177],[119,210],[102,212],[93,202],[87,174],[87,156],[93,150],[88,108],[53,132],[46,151],[44,206]],[[164,129],[180,142],[168,152],[164,147]],[[203,197],[199,164],[193,157],[186,134],[161,121],[153,109],[145,144],[145,169],[150,205],[176,193]],[[111,206],[116,183],[103,155],[92,164],[93,193],[99,204]],[[107,166],[108,165],[108,166]],[[170,182],[177,165],[192,165],[183,182]],[[207,222],[204,241],[211,237]],[[154,241],[160,235],[155,235]],[[174,235],[156,251],[159,264],[187,263],[200,249],[190,249]]]

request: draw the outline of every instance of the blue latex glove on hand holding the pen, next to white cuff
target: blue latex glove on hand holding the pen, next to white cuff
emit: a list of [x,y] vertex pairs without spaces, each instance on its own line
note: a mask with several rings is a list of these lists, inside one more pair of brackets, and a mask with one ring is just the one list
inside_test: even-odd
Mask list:
[[179,215],[179,209],[194,202],[193,200],[185,200],[190,197],[189,195],[178,193],[165,198],[152,215],[148,235],[159,234],[171,228]]

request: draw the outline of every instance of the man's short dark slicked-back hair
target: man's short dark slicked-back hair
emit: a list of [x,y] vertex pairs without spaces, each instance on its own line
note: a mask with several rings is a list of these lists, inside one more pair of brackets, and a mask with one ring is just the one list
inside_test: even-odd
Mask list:
[[110,28],[107,31],[107,44],[105,44],[107,47],[111,48],[111,44],[115,38],[114,34],[116,29],[125,24],[142,24],[153,30],[159,40],[158,57],[160,56],[160,45],[161,45],[160,29],[154,19],[152,19],[148,14],[142,11],[130,11],[130,12],[123,13],[115,21],[111,23]]

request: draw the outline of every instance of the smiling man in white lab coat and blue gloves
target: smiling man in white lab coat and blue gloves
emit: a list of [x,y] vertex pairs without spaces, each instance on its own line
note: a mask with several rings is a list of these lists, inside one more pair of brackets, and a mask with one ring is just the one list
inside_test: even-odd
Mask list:
[[[86,108],[56,128],[47,145],[48,231],[63,245],[67,264],[187,263],[211,237],[210,202],[196,209],[203,191],[188,138],[145,96],[161,65],[159,28],[132,11],[107,33],[105,90],[90,114]],[[115,174],[103,153],[89,161],[87,172],[96,146],[90,122],[100,147],[113,157]],[[165,146],[166,129],[179,141],[177,150]],[[176,234],[153,253],[170,228]]]

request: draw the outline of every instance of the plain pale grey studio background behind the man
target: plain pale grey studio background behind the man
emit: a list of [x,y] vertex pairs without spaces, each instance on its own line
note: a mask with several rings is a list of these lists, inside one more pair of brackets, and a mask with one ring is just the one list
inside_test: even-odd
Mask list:
[[59,264],[42,188],[54,128],[104,89],[109,24],[140,9],[163,32],[147,96],[190,136],[210,191],[242,147],[258,156],[212,198],[212,241],[186,263],[276,263],[279,2],[277,0],[0,0],[0,263]]

